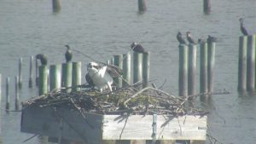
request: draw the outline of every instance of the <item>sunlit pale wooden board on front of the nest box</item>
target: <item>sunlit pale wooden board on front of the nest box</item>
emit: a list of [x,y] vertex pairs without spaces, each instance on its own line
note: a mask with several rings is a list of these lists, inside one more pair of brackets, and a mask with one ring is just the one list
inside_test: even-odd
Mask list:
[[[153,116],[104,115],[103,140],[152,140]],[[206,140],[207,117],[157,118],[158,140]]]

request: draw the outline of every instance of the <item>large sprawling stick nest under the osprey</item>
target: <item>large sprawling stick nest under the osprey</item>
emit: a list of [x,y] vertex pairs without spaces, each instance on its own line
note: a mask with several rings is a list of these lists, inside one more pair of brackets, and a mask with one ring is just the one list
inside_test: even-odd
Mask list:
[[147,87],[137,89],[127,86],[112,92],[97,92],[83,89],[66,93],[62,90],[33,98],[23,103],[23,107],[65,107],[79,112],[98,114],[163,114],[163,115],[206,115],[196,108],[188,97],[170,95],[160,89]]

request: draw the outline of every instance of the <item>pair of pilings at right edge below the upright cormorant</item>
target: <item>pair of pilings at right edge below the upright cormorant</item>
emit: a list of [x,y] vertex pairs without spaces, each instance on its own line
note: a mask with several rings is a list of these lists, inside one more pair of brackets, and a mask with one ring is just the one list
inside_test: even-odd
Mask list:
[[239,37],[238,91],[255,92],[256,35]]

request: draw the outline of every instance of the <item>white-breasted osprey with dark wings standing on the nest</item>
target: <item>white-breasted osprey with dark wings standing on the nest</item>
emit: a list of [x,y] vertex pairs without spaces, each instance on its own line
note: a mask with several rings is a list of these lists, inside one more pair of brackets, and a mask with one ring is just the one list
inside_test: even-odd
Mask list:
[[102,92],[103,89],[112,91],[111,84],[113,84],[113,78],[117,78],[121,74],[121,70],[117,66],[100,66],[96,62],[90,62],[87,65],[87,72],[87,78],[85,78],[88,84],[96,86],[100,92]]

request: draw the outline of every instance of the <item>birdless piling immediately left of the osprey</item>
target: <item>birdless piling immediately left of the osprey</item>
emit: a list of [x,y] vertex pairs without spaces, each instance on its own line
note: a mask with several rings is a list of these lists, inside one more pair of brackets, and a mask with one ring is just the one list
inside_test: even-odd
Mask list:
[[82,84],[82,62],[73,62],[72,66],[72,91],[78,92],[80,91],[80,87],[78,85]]

